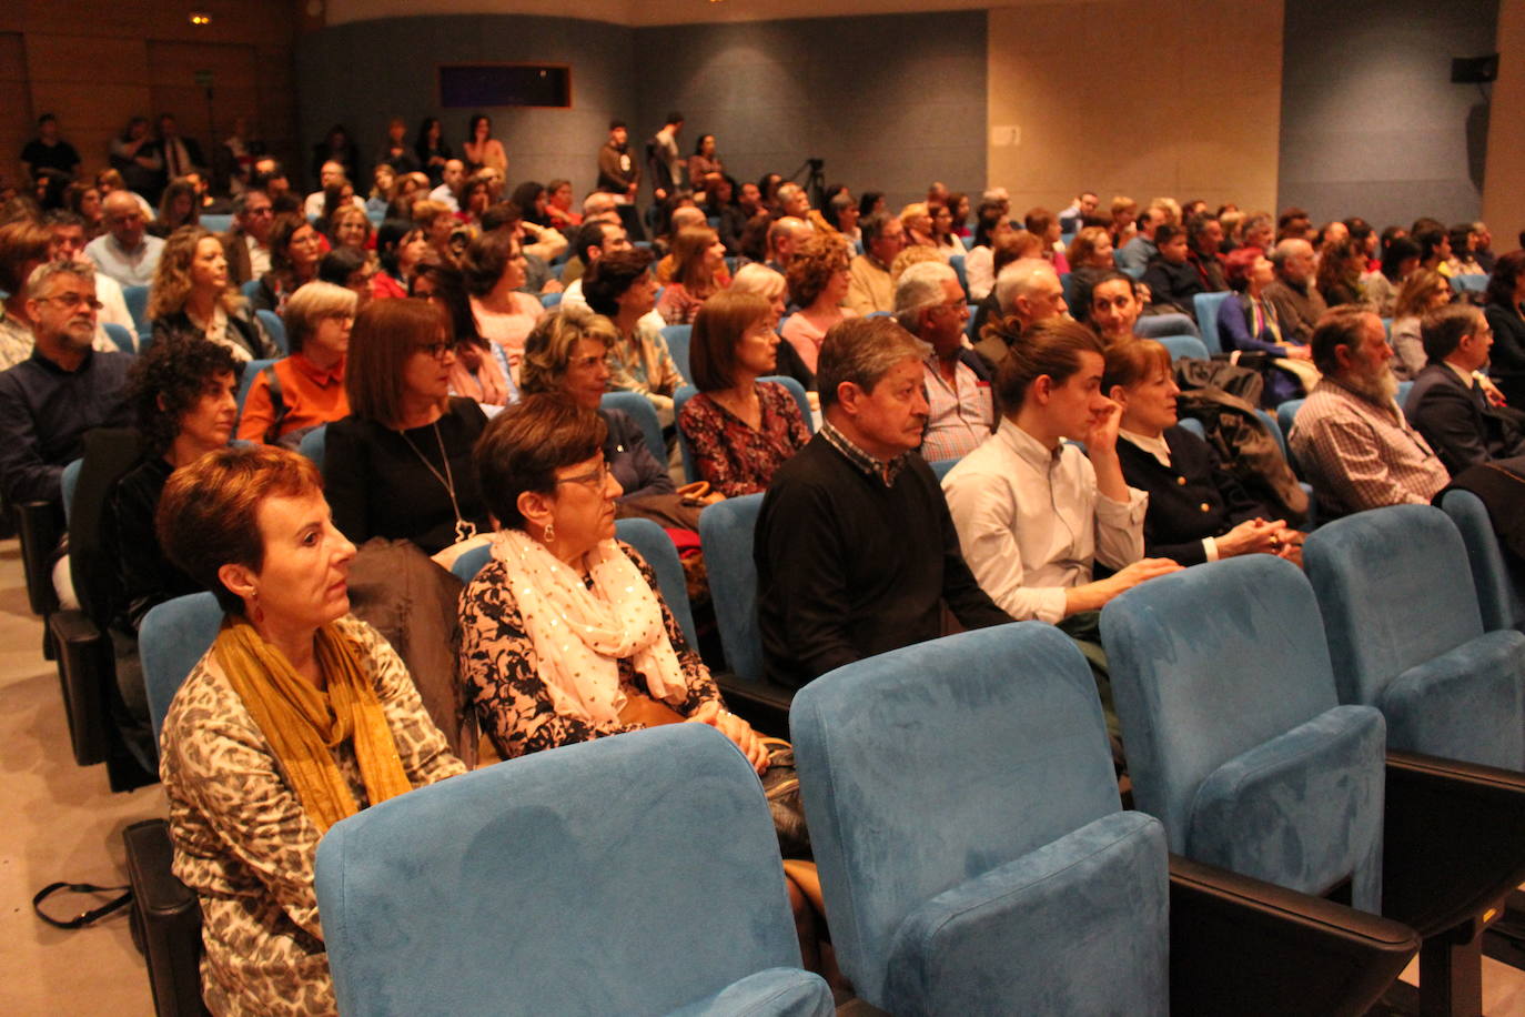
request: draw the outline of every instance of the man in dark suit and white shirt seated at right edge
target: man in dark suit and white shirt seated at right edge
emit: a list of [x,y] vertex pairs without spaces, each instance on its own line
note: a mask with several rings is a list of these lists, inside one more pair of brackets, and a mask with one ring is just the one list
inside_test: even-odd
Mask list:
[[1525,454],[1525,418],[1496,410],[1478,377],[1493,346],[1482,311],[1467,303],[1430,311],[1423,337],[1429,366],[1414,378],[1403,413],[1450,476],[1479,462]]

